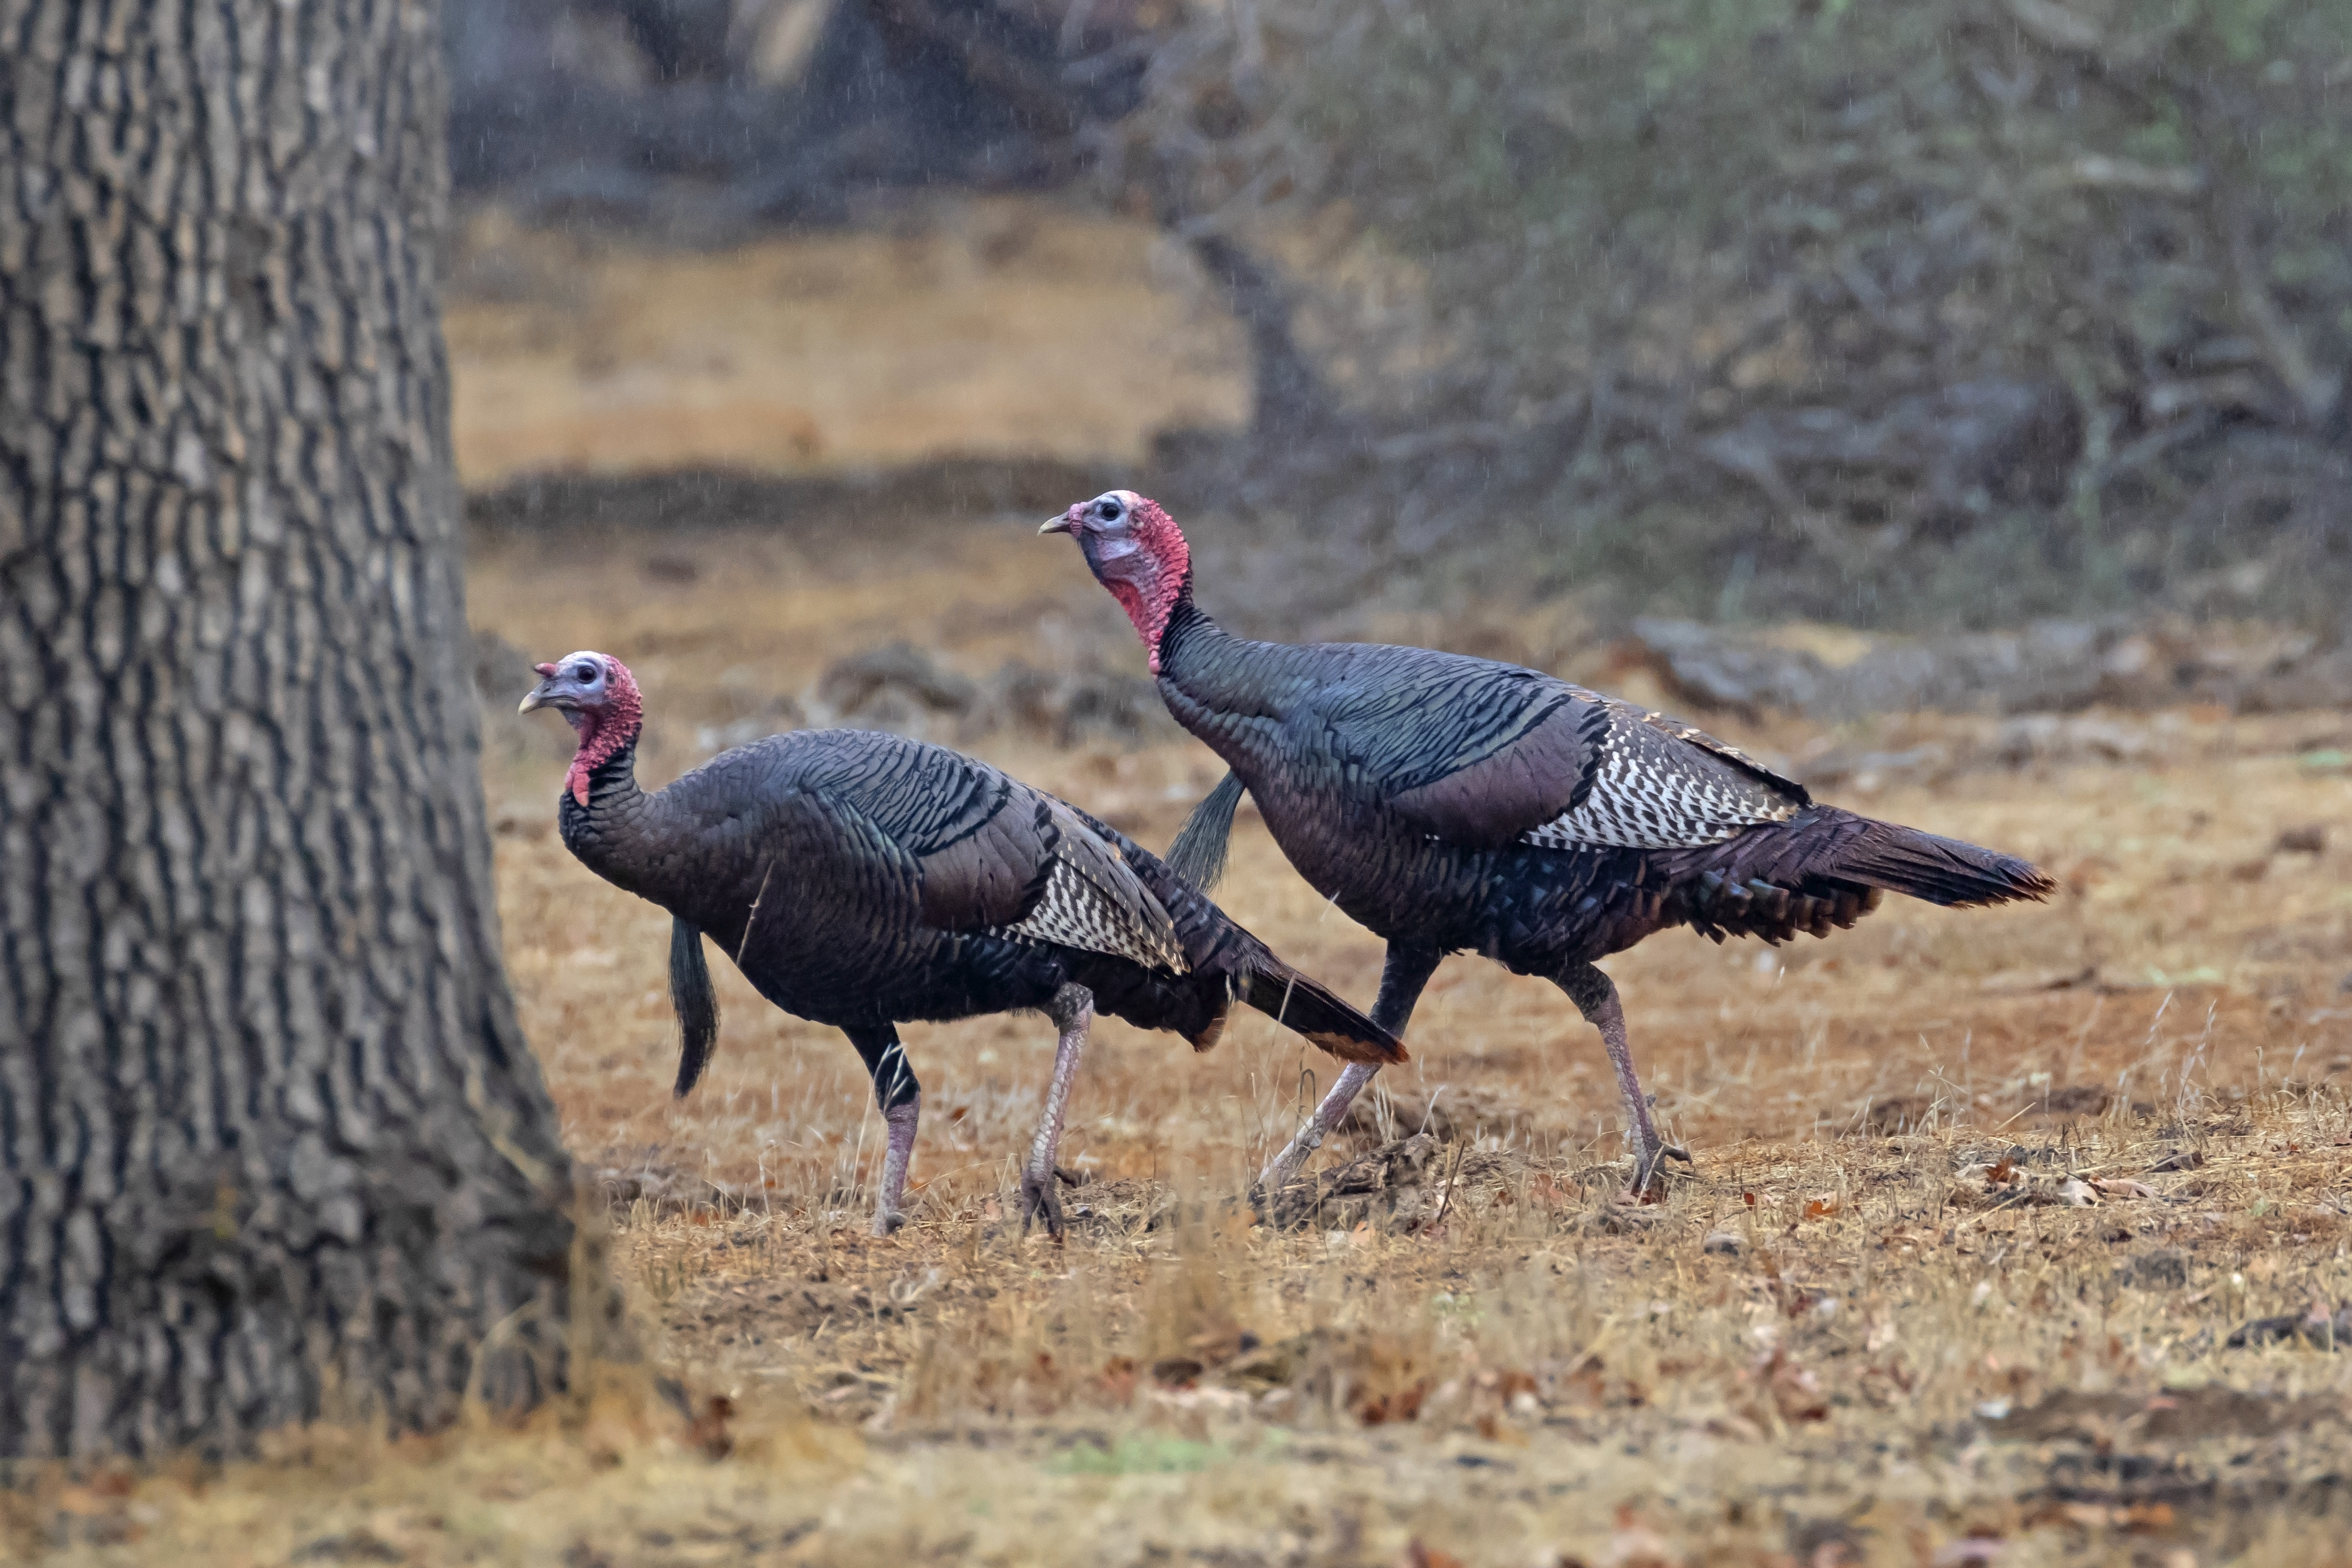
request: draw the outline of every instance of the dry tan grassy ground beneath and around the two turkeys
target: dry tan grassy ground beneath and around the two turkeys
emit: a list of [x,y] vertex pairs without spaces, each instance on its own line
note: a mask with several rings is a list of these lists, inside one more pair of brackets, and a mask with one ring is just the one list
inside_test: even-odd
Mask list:
[[[473,614],[534,658],[628,658],[659,780],[699,729],[891,637],[974,672],[1141,670],[1033,527],[499,536]],[[0,1542],[256,1566],[2352,1561],[2336,1326],[2227,1342],[2352,1298],[2352,722],[2093,715],[2025,764],[1976,719],[1715,729],[1780,757],[1938,741],[1933,776],[1828,795],[2034,856],[2063,893],[1611,959],[1698,1157],[1653,1208],[1616,1201],[1597,1039],[1491,964],[1446,964],[1378,1126],[1324,1154],[1352,1192],[1287,1229],[1235,1194],[1329,1065],[1261,1018],[1202,1058],[1103,1023],[1056,1248],[1009,1218],[1047,1025],[908,1030],[915,1222],[870,1241],[856,1056],[717,964],[717,1060],[670,1100],[666,919],[555,842],[555,719],[494,724],[524,1023],[616,1194],[652,1361],[731,1418],[696,1403],[689,1427],[621,1366],[520,1434],[54,1476],[5,1502]],[[1214,778],[1190,745],[976,750],[1150,844]],[[1247,816],[1223,900],[1369,999],[1378,943]]]

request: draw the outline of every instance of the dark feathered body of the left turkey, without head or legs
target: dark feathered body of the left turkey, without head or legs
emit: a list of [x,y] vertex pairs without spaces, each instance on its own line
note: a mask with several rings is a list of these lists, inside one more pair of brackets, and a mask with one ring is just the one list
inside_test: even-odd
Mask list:
[[814,1023],[1044,1009],[1077,980],[1098,1011],[1207,1044],[1225,964],[1256,945],[1122,835],[936,745],[795,731],[656,792],[630,764],[562,797],[564,846]]

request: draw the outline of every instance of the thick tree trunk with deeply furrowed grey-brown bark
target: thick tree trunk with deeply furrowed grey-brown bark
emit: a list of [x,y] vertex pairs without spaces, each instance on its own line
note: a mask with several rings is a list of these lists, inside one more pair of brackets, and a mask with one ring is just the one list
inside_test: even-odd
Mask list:
[[0,1455],[546,1375],[442,118],[426,0],[0,0]]

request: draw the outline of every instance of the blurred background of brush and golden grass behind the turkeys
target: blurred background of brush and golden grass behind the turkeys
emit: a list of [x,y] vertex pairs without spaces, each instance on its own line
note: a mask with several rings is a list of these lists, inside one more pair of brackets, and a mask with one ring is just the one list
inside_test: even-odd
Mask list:
[[[449,35],[489,527],[1127,482],[1244,524],[1207,548],[1256,625],[1378,604],[1559,665],[1639,614],[2063,618],[2044,684],[2352,701],[2352,2],[480,0]],[[1444,630],[1498,599],[1573,630]],[[2249,621],[2293,630],[2199,665]],[[1849,663],[1651,630],[1696,705]]]

